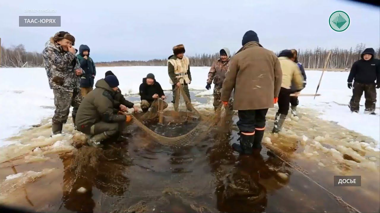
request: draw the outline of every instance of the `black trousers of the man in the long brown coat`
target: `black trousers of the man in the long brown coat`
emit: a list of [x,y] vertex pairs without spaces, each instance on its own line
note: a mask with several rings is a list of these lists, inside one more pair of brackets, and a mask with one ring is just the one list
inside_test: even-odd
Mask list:
[[265,127],[265,116],[268,109],[261,110],[239,110],[238,116],[239,121],[237,121],[237,127],[239,127],[240,132],[252,133],[255,132],[255,128]]

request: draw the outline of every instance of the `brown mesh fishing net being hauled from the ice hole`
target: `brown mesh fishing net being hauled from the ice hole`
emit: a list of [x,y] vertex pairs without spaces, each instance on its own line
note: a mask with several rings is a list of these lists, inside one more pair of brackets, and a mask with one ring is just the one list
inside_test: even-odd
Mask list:
[[[147,111],[144,115],[140,117],[131,115],[134,118],[133,122],[139,128],[146,132],[152,139],[165,146],[187,146],[199,142],[207,135],[207,132],[211,127],[223,122],[223,117],[225,117],[225,114],[228,113],[226,111],[230,111],[230,109],[222,107],[223,104],[220,104],[215,110],[215,113],[201,114],[194,108],[182,86],[177,87],[174,92],[176,94],[174,111],[164,111],[163,100],[155,100],[149,108],[149,111]],[[190,130],[190,132],[184,135],[177,137],[166,137],[155,133],[147,127],[146,124],[154,120],[158,120],[158,122],[163,125],[169,125],[171,123],[186,125],[188,122],[197,122],[197,125]]]

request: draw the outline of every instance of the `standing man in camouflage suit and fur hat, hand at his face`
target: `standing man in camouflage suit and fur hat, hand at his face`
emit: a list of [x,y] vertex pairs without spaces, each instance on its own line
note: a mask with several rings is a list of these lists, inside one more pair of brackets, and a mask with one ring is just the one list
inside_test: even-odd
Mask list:
[[43,50],[49,86],[54,93],[53,135],[62,133],[62,125],[67,121],[70,106],[73,106],[72,116],[73,122],[75,121],[76,112],[82,100],[79,84],[84,72],[75,55],[74,42],[74,36],[60,31],[50,38],[50,42]]

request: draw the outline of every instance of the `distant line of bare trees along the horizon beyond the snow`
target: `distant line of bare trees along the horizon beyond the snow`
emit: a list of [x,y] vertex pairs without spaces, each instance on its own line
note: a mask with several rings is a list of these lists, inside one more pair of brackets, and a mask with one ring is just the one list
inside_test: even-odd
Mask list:
[[[350,68],[352,64],[360,59],[360,55],[366,48],[365,44],[356,45],[347,49],[298,49],[298,60],[305,68],[322,69],[325,65],[325,58],[331,51],[330,60],[327,64],[328,69],[345,69]],[[276,53],[278,54],[278,52]],[[233,55],[233,54],[232,54]],[[211,66],[219,58],[219,53],[214,54],[196,54],[188,56],[190,66]],[[375,58],[380,58],[380,47],[375,49]],[[42,53],[27,52],[24,45],[20,44],[10,48],[1,47],[1,66],[3,67],[22,67],[27,62],[29,67],[43,66]],[[98,62],[97,66],[166,66],[166,59],[154,59],[148,61],[110,61]]]

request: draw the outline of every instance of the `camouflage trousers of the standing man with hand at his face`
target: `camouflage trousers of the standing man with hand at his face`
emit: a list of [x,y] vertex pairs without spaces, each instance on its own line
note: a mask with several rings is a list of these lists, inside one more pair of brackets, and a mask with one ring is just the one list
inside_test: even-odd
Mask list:
[[79,89],[74,89],[74,92],[53,89],[53,93],[55,111],[52,122],[65,124],[70,113],[70,106],[73,107],[72,115],[73,118],[75,118],[82,101],[82,95]]

